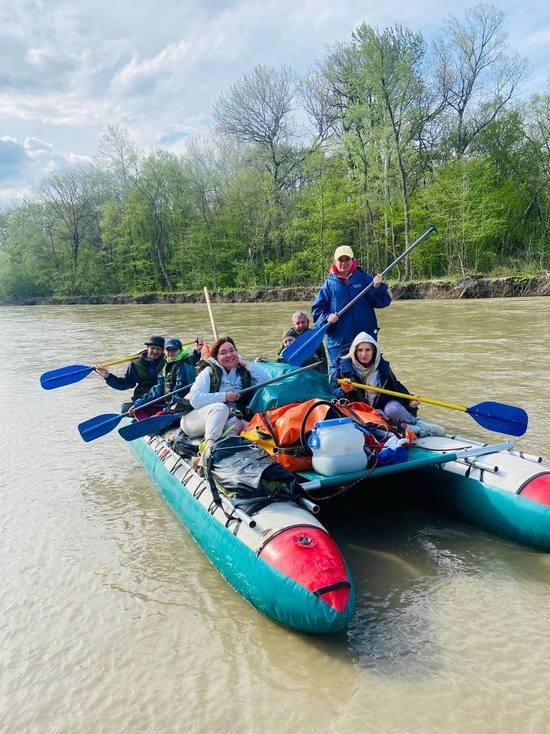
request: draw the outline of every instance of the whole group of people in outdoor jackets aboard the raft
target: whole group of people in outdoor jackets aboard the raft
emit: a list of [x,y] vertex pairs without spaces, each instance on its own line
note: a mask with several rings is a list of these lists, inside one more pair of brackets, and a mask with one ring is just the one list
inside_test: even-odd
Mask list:
[[[355,296],[370,286],[344,314],[340,314]],[[379,387],[409,394],[383,357],[377,341],[378,321],[375,309],[391,303],[387,285],[380,274],[370,275],[357,264],[353,250],[340,246],[328,278],[321,286],[312,306],[316,325],[329,324],[326,352],[321,346],[307,363],[321,362],[317,367],[329,372],[330,391],[336,398],[360,400],[379,410],[394,423],[406,425],[417,436],[444,435],[441,426],[418,419],[418,402],[413,398],[390,397],[374,390]],[[292,327],[285,331],[278,360],[284,361],[284,350],[310,329],[304,311],[292,315]],[[203,454],[227,431],[239,433],[241,419],[252,397],[252,388],[269,379],[261,362],[244,360],[229,336],[217,339],[211,348],[198,338],[193,347],[180,339],[165,340],[151,336],[138,359],[130,362],[124,377],[106,368],[97,372],[117,390],[134,388],[131,403],[123,405],[138,419],[162,410],[183,414],[182,430],[191,438],[204,437]],[[327,360],[328,353],[328,360]],[[357,387],[357,385],[365,387]],[[166,396],[159,402],[151,401]],[[145,406],[145,407],[142,407]]]

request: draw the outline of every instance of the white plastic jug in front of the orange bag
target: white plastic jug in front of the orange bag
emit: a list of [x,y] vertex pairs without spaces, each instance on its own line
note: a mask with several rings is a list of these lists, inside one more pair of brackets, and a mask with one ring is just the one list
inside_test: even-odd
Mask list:
[[308,443],[313,454],[313,469],[326,477],[367,467],[368,458],[363,451],[365,438],[351,418],[318,421]]

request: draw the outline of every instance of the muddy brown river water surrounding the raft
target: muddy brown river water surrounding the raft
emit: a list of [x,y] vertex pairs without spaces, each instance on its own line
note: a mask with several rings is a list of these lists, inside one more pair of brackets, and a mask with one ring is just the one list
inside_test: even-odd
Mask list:
[[[299,305],[214,311],[244,355],[272,356]],[[396,302],[380,321],[411,391],[521,405],[516,445],[550,458],[549,299]],[[352,624],[331,638],[286,630],[228,587],[116,431],[81,441],[77,424],[127,393],[96,375],[38,382],[151,333],[208,335],[206,307],[7,307],[0,322],[1,732],[550,730],[550,554],[421,510],[340,516]]]

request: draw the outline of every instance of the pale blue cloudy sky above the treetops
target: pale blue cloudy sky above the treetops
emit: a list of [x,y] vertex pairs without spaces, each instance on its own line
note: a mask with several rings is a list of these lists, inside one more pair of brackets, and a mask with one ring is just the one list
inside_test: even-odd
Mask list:
[[[548,88],[544,0],[497,0],[510,49],[530,64],[522,94]],[[457,0],[0,0],[0,202],[86,159],[109,125],[180,152],[212,125],[219,93],[257,63],[306,72],[360,22],[429,39]]]

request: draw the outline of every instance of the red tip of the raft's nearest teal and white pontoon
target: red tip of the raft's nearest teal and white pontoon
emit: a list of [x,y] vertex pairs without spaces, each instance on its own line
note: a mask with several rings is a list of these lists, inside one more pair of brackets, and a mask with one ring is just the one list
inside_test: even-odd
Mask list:
[[346,564],[334,540],[321,528],[283,530],[266,543],[260,556],[337,612],[345,611],[351,592]]

